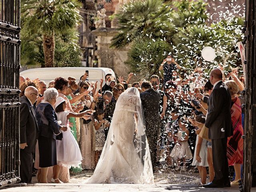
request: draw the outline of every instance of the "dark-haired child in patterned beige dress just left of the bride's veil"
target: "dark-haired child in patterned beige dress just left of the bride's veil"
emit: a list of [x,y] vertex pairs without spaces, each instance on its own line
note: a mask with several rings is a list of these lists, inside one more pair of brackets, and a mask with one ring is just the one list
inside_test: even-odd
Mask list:
[[102,152],[102,149],[105,144],[105,123],[107,123],[107,120],[104,120],[104,111],[101,109],[98,109],[95,114],[94,118],[94,129],[95,129],[95,166],[98,163],[99,156]]

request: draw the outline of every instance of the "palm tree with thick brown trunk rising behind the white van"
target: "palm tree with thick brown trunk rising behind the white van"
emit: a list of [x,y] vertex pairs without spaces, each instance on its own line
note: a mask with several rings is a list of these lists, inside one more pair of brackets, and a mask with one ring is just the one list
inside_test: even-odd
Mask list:
[[55,35],[77,28],[82,17],[78,0],[21,0],[22,25],[41,33],[45,67],[54,67]]

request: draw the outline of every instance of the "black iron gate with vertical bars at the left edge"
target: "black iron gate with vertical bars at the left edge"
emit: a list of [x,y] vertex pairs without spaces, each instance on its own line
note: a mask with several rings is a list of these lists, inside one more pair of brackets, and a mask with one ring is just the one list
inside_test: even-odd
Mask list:
[[20,181],[20,0],[0,0],[0,187]]

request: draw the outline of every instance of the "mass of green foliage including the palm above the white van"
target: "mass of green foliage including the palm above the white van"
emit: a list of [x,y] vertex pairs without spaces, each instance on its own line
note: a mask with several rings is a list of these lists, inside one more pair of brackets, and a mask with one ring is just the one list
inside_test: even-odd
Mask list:
[[[45,67],[79,65],[81,50],[77,34],[82,17],[78,0],[21,0],[23,64],[42,64]],[[65,33],[71,32],[68,39]],[[76,42],[74,42],[76,40]],[[56,50],[55,55],[55,48]],[[68,61],[67,56],[72,56]],[[54,60],[56,56],[57,61]],[[63,58],[62,58],[63,57]],[[64,62],[68,62],[65,63]]]

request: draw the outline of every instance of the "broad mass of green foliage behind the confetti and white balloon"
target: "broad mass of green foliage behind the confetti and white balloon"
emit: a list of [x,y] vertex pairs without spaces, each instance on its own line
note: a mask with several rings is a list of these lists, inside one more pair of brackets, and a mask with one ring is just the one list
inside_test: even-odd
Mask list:
[[[209,69],[218,63],[226,68],[236,66],[240,57],[236,42],[241,40],[242,18],[228,15],[220,22],[210,24],[206,5],[203,0],[171,3],[132,0],[116,14],[120,27],[112,46],[129,45],[131,49],[126,64],[134,72],[145,68],[144,73],[148,72],[148,75],[159,73],[158,66],[166,56],[159,57],[162,53],[158,53],[158,48],[167,54],[170,52],[187,72],[196,67]],[[205,46],[215,49],[217,57],[212,63],[202,59],[201,50]],[[145,62],[140,59],[145,53],[147,58],[154,60]]]

